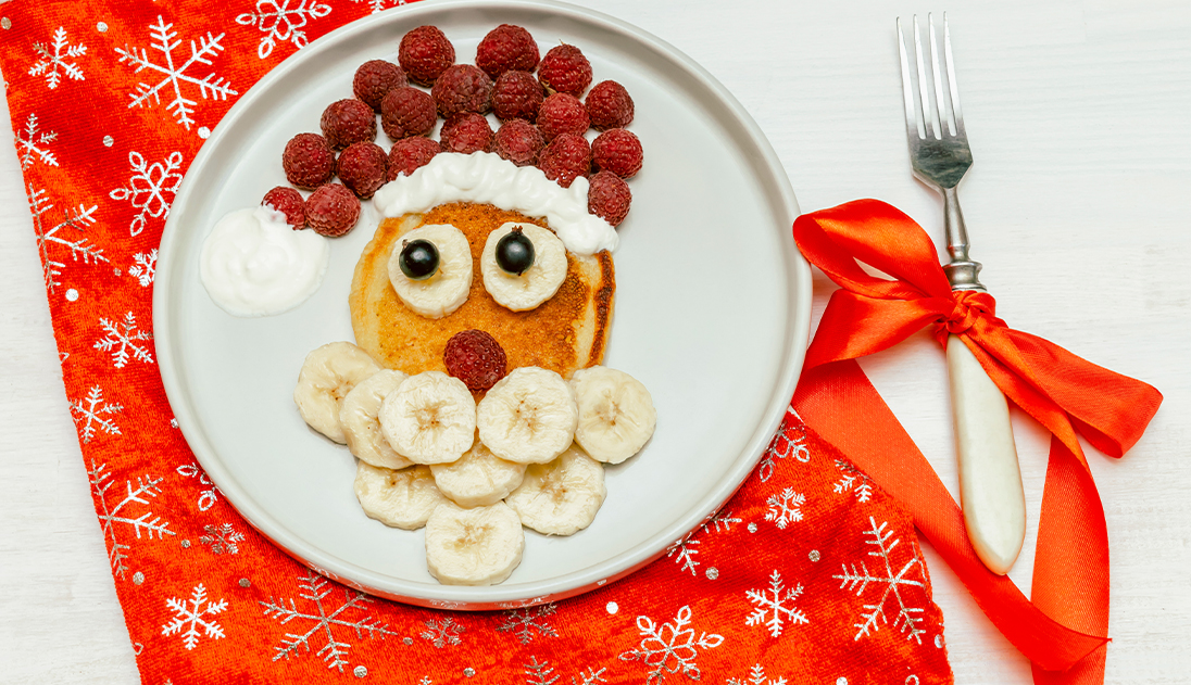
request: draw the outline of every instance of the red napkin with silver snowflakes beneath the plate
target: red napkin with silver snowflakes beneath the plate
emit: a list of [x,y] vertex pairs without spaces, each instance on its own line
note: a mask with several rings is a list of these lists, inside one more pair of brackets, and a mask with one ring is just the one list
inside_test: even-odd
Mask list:
[[711,520],[538,607],[369,597],[252,530],[156,366],[157,245],[227,109],[319,36],[403,0],[17,0],[0,68],[98,534],[144,683],[950,683],[910,520],[792,413]]

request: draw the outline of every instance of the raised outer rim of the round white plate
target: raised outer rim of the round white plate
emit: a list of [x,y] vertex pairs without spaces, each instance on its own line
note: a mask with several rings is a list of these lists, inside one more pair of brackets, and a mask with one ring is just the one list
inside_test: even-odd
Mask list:
[[[322,51],[333,50],[339,43],[349,40],[353,34],[372,31],[374,24],[387,24],[391,21],[404,24],[410,20],[417,20],[419,15],[441,14],[460,10],[480,10],[486,13],[498,14],[506,11],[548,12],[563,15],[580,24],[600,24],[605,30],[619,33],[640,46],[646,46],[665,55],[674,65],[681,68],[687,75],[696,78],[703,88],[713,94],[719,103],[728,109],[732,119],[742,126],[742,132],[750,142],[753,149],[761,153],[763,166],[769,171],[768,180],[773,183],[774,190],[777,190],[782,201],[788,221],[792,224],[794,218],[798,216],[798,202],[794,197],[788,175],[768,138],[740,101],[710,71],[668,42],[628,21],[599,11],[556,0],[428,0],[414,5],[406,5],[400,10],[370,14],[349,21],[322,36],[272,68],[229,108],[187,169],[187,174],[183,176],[181,187],[172,203],[172,209],[173,207],[185,208],[192,195],[194,182],[191,182],[191,180],[194,176],[191,174],[191,170],[201,169],[207,163],[207,158],[216,153],[214,151],[219,147],[219,143],[224,136],[235,128],[235,125],[244,115],[244,112],[251,107],[252,102],[262,93],[268,92],[274,82],[282,80],[291,71],[300,69],[306,61],[317,58]],[[374,573],[353,573],[350,568],[344,568],[344,564],[337,563],[339,560],[338,557],[320,549],[306,549],[306,547],[310,547],[308,545],[292,539],[286,526],[276,521],[268,511],[261,510],[263,508],[257,508],[255,503],[245,505],[248,504],[245,499],[250,501],[251,497],[223,470],[216,450],[207,442],[201,428],[201,421],[195,416],[197,411],[192,408],[191,402],[186,400],[186,383],[182,379],[180,360],[175,359],[173,353],[174,342],[169,333],[170,326],[176,323],[176,316],[172,313],[168,300],[174,293],[174,289],[169,288],[169,283],[176,278],[174,275],[174,252],[179,250],[175,247],[175,243],[181,240],[179,235],[183,231],[183,228],[179,227],[179,224],[183,220],[182,216],[183,212],[172,210],[162,231],[162,239],[158,246],[157,278],[155,278],[154,283],[152,323],[158,371],[162,376],[167,401],[169,401],[170,409],[186,439],[187,446],[212,482],[225,494],[227,502],[254,529],[286,554],[336,582],[370,595],[406,604],[456,610],[492,610],[529,607],[596,590],[643,568],[649,563],[667,553],[673,545],[681,541],[692,530],[701,526],[743,486],[748,479],[748,475],[761,459],[771,438],[787,411],[788,402],[794,392],[805,357],[811,318],[811,272],[810,265],[803,258],[791,237],[788,240],[781,241],[781,257],[786,270],[787,302],[792,312],[785,331],[784,347],[786,356],[777,373],[778,382],[775,383],[775,389],[765,414],[757,422],[756,431],[741,446],[735,467],[724,473],[721,485],[703,499],[701,505],[692,508],[685,515],[672,521],[660,533],[621,554],[579,571],[534,582],[532,586],[538,590],[531,593],[526,593],[524,586],[517,584],[485,587],[417,584],[414,587],[411,582],[393,577],[389,577],[391,582],[385,584],[386,586],[378,586],[375,583],[357,580],[361,576],[369,577],[374,576]],[[179,256],[179,258],[185,258],[185,256]],[[740,459],[738,457],[741,455],[750,457]],[[303,549],[303,552],[295,548]],[[314,553],[311,554],[310,552]],[[347,560],[343,561],[347,565],[351,565]],[[348,572],[344,573],[344,571]],[[401,589],[403,585],[407,587]],[[517,591],[518,587],[522,587],[522,590]],[[460,596],[474,597],[461,599]]]

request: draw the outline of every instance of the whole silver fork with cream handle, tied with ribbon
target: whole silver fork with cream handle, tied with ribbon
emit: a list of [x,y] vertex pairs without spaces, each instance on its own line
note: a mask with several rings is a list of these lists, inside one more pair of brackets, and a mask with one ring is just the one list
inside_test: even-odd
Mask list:
[[[956,194],[960,180],[972,166],[972,151],[955,86],[947,14],[943,14],[941,50],[930,14],[927,14],[927,25],[929,71],[918,18],[913,18],[912,69],[902,19],[897,20],[910,162],[913,175],[943,195],[947,252],[952,258],[943,271],[952,290],[984,291],[978,278],[980,264],[968,257],[967,228]],[[946,73],[940,69],[940,51]],[[947,340],[947,369],[959,452],[960,502],[968,539],[985,566],[1004,574],[1014,565],[1025,539],[1025,496],[1009,407],[980,363],[955,335]]]

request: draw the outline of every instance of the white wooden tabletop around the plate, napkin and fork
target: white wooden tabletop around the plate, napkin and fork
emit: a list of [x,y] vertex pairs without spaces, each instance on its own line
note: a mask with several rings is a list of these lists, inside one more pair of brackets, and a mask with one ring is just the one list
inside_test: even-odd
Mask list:
[[[877,197],[940,241],[941,201],[906,159],[893,19],[949,12],[975,158],[961,197],[998,314],[1166,396],[1123,460],[1090,452],[1112,558],[1106,680],[1187,681],[1191,4],[580,4],[662,37],[723,81],[768,134],[804,210]],[[0,147],[12,150],[2,128]],[[139,683],[13,152],[0,153],[0,681]],[[817,314],[830,283],[817,275],[815,285]],[[919,334],[863,366],[955,492],[942,352]],[[1030,524],[1011,577],[1028,592],[1048,441],[1021,414],[1014,421]],[[1029,683],[1028,662],[927,554],[956,683]]]

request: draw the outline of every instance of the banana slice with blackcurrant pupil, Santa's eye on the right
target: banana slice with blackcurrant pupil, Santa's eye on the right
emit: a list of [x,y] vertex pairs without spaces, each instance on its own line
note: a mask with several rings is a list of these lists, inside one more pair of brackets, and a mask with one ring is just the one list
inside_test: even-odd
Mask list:
[[[530,244],[528,249],[525,241]],[[562,287],[567,278],[567,249],[547,228],[510,221],[488,234],[480,254],[480,274],[484,289],[498,304],[526,312],[554,297]]]

